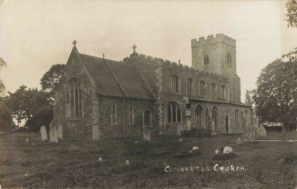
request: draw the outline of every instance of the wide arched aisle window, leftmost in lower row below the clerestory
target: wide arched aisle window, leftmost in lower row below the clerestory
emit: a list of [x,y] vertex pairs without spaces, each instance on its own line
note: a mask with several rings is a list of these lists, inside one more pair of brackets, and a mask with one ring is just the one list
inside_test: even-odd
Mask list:
[[174,102],[171,101],[168,103],[165,107],[165,111],[167,114],[167,123],[180,123],[181,118],[182,118],[182,111],[181,111],[181,106]]

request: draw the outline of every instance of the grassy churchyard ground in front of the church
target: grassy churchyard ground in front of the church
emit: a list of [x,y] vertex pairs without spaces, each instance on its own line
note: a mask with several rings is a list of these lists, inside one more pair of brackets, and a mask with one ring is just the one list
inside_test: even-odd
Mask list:
[[[270,133],[267,135],[270,137]],[[183,138],[182,142],[177,136],[160,136],[153,137],[150,143],[141,138],[63,140],[56,144],[41,142],[39,134],[0,135],[0,185],[3,189],[296,188],[297,142],[236,145],[227,141],[239,136]],[[29,142],[25,142],[26,138]],[[32,142],[35,145],[31,146]],[[201,155],[187,153],[193,146],[201,149]],[[211,160],[219,146],[231,146],[238,157]],[[220,172],[216,164],[229,170]]]

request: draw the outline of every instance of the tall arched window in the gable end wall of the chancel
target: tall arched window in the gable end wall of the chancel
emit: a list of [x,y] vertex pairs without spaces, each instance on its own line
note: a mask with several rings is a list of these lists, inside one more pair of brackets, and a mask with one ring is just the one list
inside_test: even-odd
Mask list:
[[75,77],[67,83],[67,115],[68,118],[79,118],[83,115],[82,85]]

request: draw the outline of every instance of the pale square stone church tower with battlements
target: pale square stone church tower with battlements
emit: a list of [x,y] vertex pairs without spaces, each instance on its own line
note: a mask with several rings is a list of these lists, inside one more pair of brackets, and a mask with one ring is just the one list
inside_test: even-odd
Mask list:
[[236,74],[236,40],[223,34],[191,40],[192,67],[228,76],[229,101],[241,102],[240,77]]

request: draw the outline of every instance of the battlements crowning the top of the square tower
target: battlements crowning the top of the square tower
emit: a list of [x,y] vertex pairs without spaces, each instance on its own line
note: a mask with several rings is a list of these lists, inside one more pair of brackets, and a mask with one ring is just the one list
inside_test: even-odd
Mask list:
[[207,39],[205,39],[204,37],[199,37],[198,41],[197,39],[192,39],[191,47],[194,48],[194,47],[214,44],[214,43],[226,43],[236,48],[236,40],[221,33],[216,34],[215,37],[213,37],[213,35],[209,35],[207,36]]

